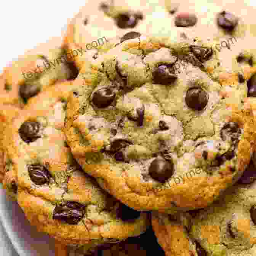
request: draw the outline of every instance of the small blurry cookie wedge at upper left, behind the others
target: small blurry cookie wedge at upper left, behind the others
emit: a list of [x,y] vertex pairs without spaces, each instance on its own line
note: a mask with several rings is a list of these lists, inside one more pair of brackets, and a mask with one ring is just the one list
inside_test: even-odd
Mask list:
[[77,69],[54,37],[27,51],[4,68],[0,85],[2,103],[23,105],[57,80],[74,79]]

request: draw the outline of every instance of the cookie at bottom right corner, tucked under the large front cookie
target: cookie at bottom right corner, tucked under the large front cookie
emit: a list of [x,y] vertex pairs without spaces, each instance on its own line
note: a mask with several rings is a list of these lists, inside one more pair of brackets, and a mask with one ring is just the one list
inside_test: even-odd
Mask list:
[[[247,178],[255,175],[253,169]],[[255,255],[256,182],[246,183],[243,178],[205,209],[179,216],[154,214],[152,224],[166,256]]]

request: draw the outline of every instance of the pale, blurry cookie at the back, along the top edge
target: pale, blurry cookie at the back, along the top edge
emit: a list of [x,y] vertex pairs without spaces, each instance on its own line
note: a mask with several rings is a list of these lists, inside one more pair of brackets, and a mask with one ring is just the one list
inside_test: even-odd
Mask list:
[[[201,37],[227,40],[255,36],[253,6],[229,0],[201,2],[170,0],[96,0],[85,3],[67,28],[65,42],[82,68],[95,58],[109,38],[128,32],[168,36],[174,27],[196,30]],[[131,35],[130,35],[131,36]],[[134,36],[134,35],[133,35]]]

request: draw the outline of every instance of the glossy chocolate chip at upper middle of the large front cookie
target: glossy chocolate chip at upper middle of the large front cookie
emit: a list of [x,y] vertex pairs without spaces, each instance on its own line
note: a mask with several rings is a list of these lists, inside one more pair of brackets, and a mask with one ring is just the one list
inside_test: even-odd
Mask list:
[[174,74],[172,65],[169,64],[160,64],[152,72],[152,77],[154,83],[158,83],[160,85],[169,85],[178,78],[177,75]]

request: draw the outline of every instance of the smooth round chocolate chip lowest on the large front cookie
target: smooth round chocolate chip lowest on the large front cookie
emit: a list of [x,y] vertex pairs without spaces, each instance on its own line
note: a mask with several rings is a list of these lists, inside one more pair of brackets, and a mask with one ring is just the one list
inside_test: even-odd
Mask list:
[[149,175],[161,182],[164,183],[173,175],[173,162],[166,161],[164,158],[155,158],[149,166]]

